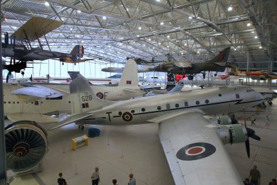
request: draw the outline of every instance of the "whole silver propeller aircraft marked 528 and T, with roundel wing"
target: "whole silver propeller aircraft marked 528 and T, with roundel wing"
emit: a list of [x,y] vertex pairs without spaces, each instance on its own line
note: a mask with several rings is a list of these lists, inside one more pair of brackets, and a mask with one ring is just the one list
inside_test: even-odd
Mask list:
[[175,184],[242,184],[223,144],[245,142],[255,132],[222,116],[210,125],[206,114],[222,114],[252,107],[262,95],[250,87],[215,87],[135,98],[119,102],[100,100],[84,78],[70,84],[72,116],[50,130],[70,123],[129,125],[159,123],[159,137]]

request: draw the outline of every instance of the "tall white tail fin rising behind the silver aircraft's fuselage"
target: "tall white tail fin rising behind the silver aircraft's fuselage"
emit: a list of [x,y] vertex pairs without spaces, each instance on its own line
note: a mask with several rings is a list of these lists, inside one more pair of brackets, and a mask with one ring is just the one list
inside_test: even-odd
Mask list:
[[118,86],[139,87],[138,66],[133,59],[127,60]]

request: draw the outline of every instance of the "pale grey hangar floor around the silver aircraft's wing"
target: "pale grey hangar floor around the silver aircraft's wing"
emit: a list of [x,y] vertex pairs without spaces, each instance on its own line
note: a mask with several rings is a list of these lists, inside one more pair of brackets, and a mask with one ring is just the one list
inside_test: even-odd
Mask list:
[[[242,114],[242,112],[238,113]],[[251,116],[253,112],[246,112]],[[265,115],[271,125],[265,127]],[[261,173],[261,184],[277,177],[277,101],[256,114],[256,126],[247,125],[256,131],[261,141],[250,139],[251,157],[247,158],[244,143],[226,145],[233,163],[242,179],[248,177],[251,166],[257,165]],[[243,121],[240,121],[241,123]],[[71,124],[48,132],[48,153],[41,172],[16,176],[13,184],[57,184],[57,174],[64,173],[68,184],[91,184],[91,173],[96,166],[100,169],[100,184],[127,184],[129,173],[134,173],[137,184],[174,184],[170,168],[159,142],[158,125],[99,126],[100,136],[89,138],[89,146],[71,150],[71,139],[87,134]]]

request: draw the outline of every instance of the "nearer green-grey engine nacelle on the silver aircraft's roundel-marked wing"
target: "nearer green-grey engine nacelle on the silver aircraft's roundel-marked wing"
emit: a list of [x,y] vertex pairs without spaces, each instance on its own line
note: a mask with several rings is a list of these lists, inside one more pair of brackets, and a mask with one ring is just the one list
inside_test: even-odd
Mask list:
[[242,143],[247,141],[247,129],[241,124],[220,125],[219,136],[224,144]]

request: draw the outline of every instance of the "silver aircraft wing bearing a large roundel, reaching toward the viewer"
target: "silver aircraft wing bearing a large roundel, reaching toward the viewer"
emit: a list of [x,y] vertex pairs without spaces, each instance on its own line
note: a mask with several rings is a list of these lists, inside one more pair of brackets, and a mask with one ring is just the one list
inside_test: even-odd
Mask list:
[[201,112],[164,120],[159,136],[175,184],[242,184],[223,143]]

